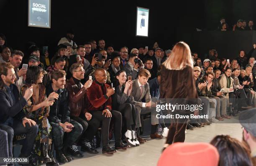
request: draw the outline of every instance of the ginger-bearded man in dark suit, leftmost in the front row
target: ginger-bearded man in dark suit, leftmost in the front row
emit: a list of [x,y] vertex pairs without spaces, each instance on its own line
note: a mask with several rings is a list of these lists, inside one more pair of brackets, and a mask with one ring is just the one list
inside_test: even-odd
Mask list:
[[26,118],[23,107],[33,94],[33,87],[28,88],[23,95],[14,84],[16,78],[14,67],[11,64],[0,64],[0,129],[8,133],[9,156],[13,157],[13,136],[26,134],[20,157],[31,154],[33,143],[38,132],[36,122]]

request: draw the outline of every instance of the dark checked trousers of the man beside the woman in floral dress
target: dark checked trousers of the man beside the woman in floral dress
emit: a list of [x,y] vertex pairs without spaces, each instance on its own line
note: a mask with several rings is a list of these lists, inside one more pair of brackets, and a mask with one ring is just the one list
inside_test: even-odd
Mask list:
[[70,119],[69,123],[74,125],[74,128],[72,128],[72,131],[69,133],[65,133],[59,123],[50,123],[52,127],[52,138],[55,150],[61,150],[63,146],[72,146],[77,138],[79,138],[83,130],[82,125],[72,119]]

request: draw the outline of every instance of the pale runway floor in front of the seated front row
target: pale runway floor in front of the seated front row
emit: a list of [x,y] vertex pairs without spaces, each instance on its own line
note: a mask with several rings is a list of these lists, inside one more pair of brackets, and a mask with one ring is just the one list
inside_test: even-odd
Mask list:
[[[76,158],[65,166],[156,166],[161,155],[161,149],[165,139],[151,140],[149,138],[150,121],[146,120],[146,131],[144,138],[147,142],[134,148],[118,151],[114,155],[105,155],[100,152],[97,155],[83,153],[83,158]],[[241,140],[242,130],[238,120],[231,119],[213,123],[210,126],[187,130],[186,142],[210,142],[216,135],[230,135],[231,137]],[[113,143],[111,143],[113,146]]]

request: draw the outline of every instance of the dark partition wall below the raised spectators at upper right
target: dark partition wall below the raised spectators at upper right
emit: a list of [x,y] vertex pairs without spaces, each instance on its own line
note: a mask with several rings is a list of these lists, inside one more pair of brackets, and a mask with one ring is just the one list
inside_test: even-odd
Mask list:
[[238,57],[240,50],[248,53],[253,48],[256,31],[202,31],[184,34],[181,38],[187,41],[191,50],[196,50],[201,59],[208,49],[215,48],[219,58],[232,60]]

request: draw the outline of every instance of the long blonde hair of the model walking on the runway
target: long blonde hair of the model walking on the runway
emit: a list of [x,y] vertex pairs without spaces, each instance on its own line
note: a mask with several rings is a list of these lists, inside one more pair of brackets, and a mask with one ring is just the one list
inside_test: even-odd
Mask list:
[[164,62],[164,66],[169,70],[180,70],[185,66],[193,68],[191,51],[187,43],[180,41],[172,49],[172,54]]

